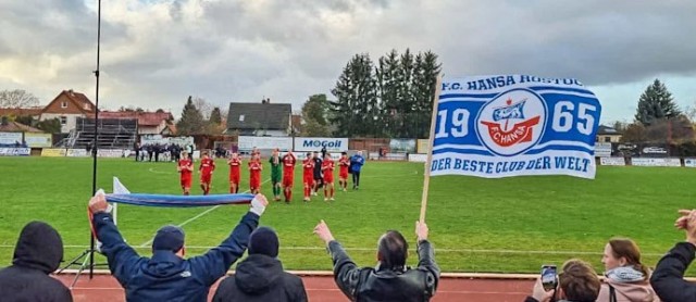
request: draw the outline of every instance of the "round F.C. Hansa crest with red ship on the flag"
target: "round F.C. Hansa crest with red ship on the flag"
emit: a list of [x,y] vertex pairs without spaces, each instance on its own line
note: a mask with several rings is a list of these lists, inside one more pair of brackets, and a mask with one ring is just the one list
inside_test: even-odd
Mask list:
[[481,109],[476,118],[478,138],[498,155],[520,154],[542,138],[546,114],[538,95],[527,89],[509,90]]

